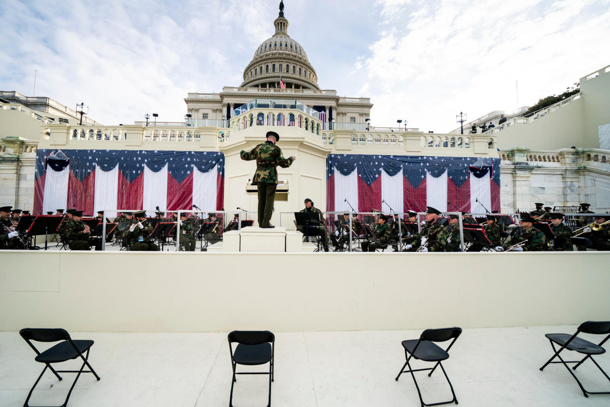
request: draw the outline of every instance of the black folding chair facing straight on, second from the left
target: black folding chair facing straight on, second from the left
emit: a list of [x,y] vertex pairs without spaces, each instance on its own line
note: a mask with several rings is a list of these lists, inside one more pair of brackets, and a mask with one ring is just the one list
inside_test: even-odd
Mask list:
[[[237,378],[235,375],[269,375],[269,402],[271,406],[271,382],[273,381],[273,350],[275,336],[270,331],[233,331],[228,336],[231,365],[233,367],[233,380],[231,381],[231,397],[229,407],[233,407],[233,385]],[[232,343],[237,342],[235,351]],[[269,363],[269,372],[235,372],[237,365],[256,366]]]

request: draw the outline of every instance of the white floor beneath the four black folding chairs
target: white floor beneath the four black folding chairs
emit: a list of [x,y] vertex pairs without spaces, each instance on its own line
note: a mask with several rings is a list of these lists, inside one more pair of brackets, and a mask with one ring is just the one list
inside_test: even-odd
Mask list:
[[[610,395],[585,398],[561,364],[550,364],[544,372],[539,370],[552,355],[544,334],[573,333],[575,329],[576,326],[537,326],[464,330],[450,350],[451,357],[443,363],[459,405],[610,405]],[[420,333],[420,330],[276,333],[271,403],[296,407],[419,406],[411,375],[403,373],[399,381],[394,378],[404,364],[401,340],[416,339]],[[72,333],[72,336],[95,340],[89,361],[101,380],[96,381],[91,373],[81,375],[68,403],[70,407],[229,404],[231,362],[226,333]],[[598,336],[583,337],[601,340]],[[579,359],[578,355],[569,355],[566,360]],[[23,405],[43,368],[34,357],[34,351],[18,333],[0,333],[0,406]],[[608,354],[596,360],[610,372]],[[58,369],[80,367],[77,362],[65,365]],[[415,367],[428,364],[416,361]],[[576,374],[589,391],[610,391],[610,383],[592,362],[585,362]],[[30,403],[60,405],[74,375],[64,373],[64,380],[57,381],[52,373],[46,373]],[[440,369],[431,378],[426,372],[416,375],[425,402],[451,398]],[[234,405],[265,406],[267,383],[267,376],[238,376]]]

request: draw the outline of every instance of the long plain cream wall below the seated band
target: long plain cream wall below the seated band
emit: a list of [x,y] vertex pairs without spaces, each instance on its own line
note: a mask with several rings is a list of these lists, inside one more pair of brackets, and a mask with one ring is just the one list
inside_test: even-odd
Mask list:
[[1,257],[4,331],[481,328],[578,324],[610,314],[609,252],[4,251]]

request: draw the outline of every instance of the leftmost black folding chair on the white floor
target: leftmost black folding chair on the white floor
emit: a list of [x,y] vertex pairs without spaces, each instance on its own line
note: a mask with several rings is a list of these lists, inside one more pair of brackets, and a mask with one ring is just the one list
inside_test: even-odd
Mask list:
[[[72,386],[70,387],[70,391],[68,391],[66,401],[63,402],[62,405],[57,407],[65,407],[66,405],[68,405],[68,398],[70,398],[70,394],[72,393],[74,385],[76,384],[76,381],[78,380],[79,376],[81,376],[81,373],[93,373],[93,375],[95,375],[95,378],[99,380],[98,374],[95,373],[95,370],[93,370],[93,367],[91,367],[91,365],[87,361],[89,357],[89,350],[91,348],[91,345],[93,345],[93,340],[73,340],[70,337],[70,334],[62,328],[24,328],[23,330],[19,331],[19,334],[21,335],[21,337],[23,337],[23,339],[26,340],[27,344],[30,345],[30,347],[36,352],[37,356],[34,360],[45,364],[45,369],[42,370],[40,376],[38,376],[38,379],[34,383],[34,386],[32,386],[32,389],[27,395],[26,402],[23,404],[24,407],[30,407],[28,402],[30,400],[30,397],[32,397],[32,392],[34,392],[36,385],[40,381],[40,378],[42,378],[42,376],[45,374],[47,368],[51,369],[51,372],[53,372],[53,374],[56,375],[59,380],[62,380],[62,376],[57,373],[78,373],[76,375],[76,378],[74,379],[74,383],[72,383]],[[61,340],[62,342],[52,346],[51,348],[43,352],[40,352],[32,344],[32,340],[36,342],[58,342]],[[85,351],[87,353],[83,355]],[[83,361],[80,370],[55,370],[51,366],[51,363],[65,362],[69,361],[70,359],[76,359],[79,356]],[[83,370],[85,366],[87,366],[91,370]]]

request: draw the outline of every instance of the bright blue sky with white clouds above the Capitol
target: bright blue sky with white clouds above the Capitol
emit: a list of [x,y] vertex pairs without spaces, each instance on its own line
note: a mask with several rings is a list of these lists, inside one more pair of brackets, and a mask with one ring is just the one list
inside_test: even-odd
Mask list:
[[[320,87],[370,97],[375,126],[450,131],[460,111],[531,106],[610,64],[610,0],[284,3]],[[37,70],[37,96],[103,124],[180,121],[188,92],[241,84],[278,4],[1,0],[0,90],[31,96]]]

